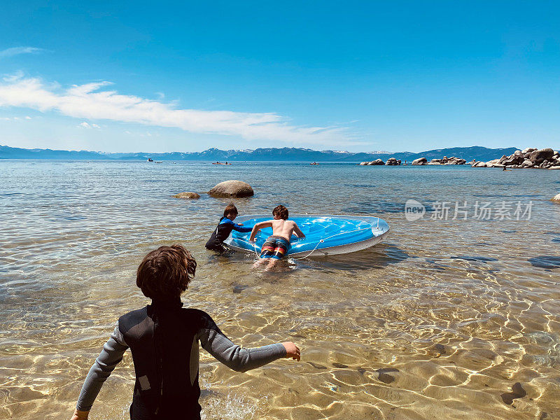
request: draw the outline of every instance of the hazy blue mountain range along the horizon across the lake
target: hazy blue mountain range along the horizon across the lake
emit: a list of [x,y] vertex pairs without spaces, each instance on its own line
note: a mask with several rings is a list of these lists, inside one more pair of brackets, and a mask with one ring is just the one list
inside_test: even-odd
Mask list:
[[404,162],[417,158],[428,160],[447,156],[470,160],[492,160],[502,155],[511,155],[517,148],[486,148],[482,146],[435,149],[421,153],[412,152],[371,152],[352,153],[344,151],[314,151],[307,148],[258,148],[255,150],[222,151],[209,148],[203,152],[172,153],[102,153],[90,151],[53,151],[51,149],[24,149],[0,146],[0,159],[45,159],[45,160],[199,160],[249,161],[249,162],[363,162],[375,159],[396,158]]

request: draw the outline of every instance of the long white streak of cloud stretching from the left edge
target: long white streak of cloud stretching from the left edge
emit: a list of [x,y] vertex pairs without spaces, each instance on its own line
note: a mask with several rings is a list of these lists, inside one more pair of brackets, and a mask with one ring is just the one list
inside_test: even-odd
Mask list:
[[[177,109],[176,104],[102,90],[102,87],[111,85],[109,82],[73,85],[63,90],[57,84],[47,85],[38,78],[21,75],[3,80],[3,83],[0,82],[0,106],[57,111],[64,116],[87,120],[176,127],[187,132],[233,135],[248,140],[344,146],[359,144],[352,141],[344,127],[291,125],[276,113]],[[85,127],[84,123],[80,125]]]

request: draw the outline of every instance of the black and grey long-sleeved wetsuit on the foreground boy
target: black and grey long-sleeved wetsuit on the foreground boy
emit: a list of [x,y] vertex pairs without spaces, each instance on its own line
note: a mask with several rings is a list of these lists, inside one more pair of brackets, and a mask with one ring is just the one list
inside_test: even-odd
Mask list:
[[97,393],[130,347],[136,383],[132,420],[200,419],[199,342],[233,370],[246,372],[286,356],[280,343],[241,349],[212,318],[176,302],[152,302],[119,318],[85,378],[77,408],[91,409]]

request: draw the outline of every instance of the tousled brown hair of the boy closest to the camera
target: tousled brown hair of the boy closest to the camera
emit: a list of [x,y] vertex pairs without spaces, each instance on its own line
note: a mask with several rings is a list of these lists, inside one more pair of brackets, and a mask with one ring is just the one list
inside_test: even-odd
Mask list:
[[182,245],[160,246],[140,263],[136,285],[151,299],[174,300],[187,290],[196,269],[195,258]]

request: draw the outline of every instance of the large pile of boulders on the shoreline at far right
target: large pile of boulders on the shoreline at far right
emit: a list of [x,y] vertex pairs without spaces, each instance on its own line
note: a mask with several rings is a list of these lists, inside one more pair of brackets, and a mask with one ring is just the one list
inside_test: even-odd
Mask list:
[[560,153],[553,151],[552,148],[526,148],[522,151],[515,151],[512,155],[503,155],[499,159],[489,160],[488,162],[472,161],[473,168],[535,168],[535,169],[560,169]]

